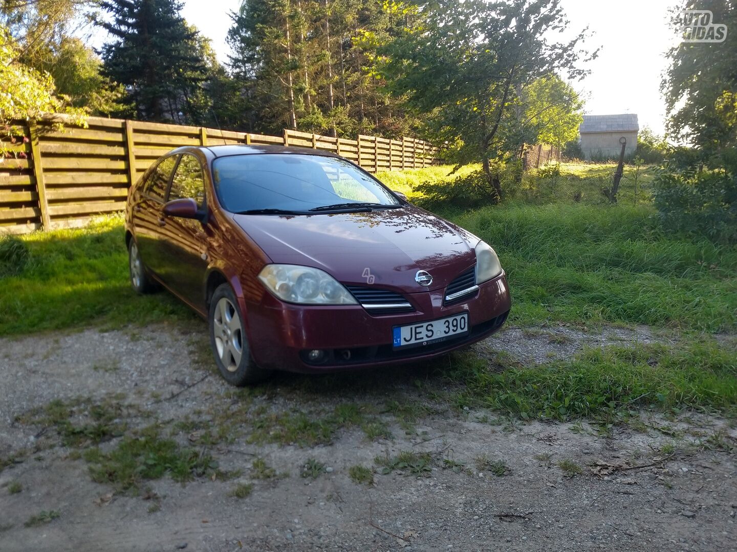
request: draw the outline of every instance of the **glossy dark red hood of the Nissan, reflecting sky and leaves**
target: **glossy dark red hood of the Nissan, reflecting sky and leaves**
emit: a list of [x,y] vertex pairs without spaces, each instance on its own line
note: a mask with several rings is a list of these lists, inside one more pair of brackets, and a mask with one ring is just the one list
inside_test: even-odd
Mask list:
[[[406,293],[441,289],[475,263],[472,247],[478,238],[412,205],[368,213],[233,218],[273,263],[313,266],[346,284]],[[418,270],[433,276],[429,287],[415,281]]]

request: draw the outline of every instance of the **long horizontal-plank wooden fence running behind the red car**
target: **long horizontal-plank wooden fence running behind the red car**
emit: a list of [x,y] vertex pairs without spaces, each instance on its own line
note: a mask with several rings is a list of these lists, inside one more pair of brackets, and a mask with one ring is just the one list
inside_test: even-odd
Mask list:
[[49,121],[16,124],[2,138],[0,232],[80,226],[122,210],[128,188],[161,155],[178,146],[271,144],[321,149],[367,171],[420,169],[439,163],[421,140],[356,140],[284,130],[282,136],[205,127],[88,118],[88,128],[55,130]]

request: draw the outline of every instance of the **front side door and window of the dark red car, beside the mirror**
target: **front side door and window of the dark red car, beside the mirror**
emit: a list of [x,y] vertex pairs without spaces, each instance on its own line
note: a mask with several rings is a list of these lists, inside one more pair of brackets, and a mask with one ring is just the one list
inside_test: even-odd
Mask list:
[[[206,210],[205,180],[200,160],[183,153],[172,178],[167,202],[191,198],[200,211]],[[194,219],[167,216],[164,241],[164,278],[184,300],[201,307],[203,283],[209,261],[209,233],[206,224]]]

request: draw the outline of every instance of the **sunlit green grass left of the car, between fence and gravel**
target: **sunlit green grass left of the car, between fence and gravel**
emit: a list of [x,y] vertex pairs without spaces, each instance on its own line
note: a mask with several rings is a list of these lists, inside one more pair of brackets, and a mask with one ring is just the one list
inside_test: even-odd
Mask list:
[[0,275],[0,336],[194,316],[170,294],[130,289],[121,216],[21,239],[29,260],[18,275]]

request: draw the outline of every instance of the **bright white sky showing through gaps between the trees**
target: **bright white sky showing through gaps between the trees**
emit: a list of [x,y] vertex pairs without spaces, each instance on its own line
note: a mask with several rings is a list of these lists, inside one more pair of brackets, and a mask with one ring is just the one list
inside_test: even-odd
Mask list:
[[[674,1],[561,0],[570,20],[563,36],[588,26],[593,36],[584,46],[590,50],[601,46],[598,58],[586,65],[590,74],[571,83],[586,102],[584,113],[637,113],[640,128],[663,134],[660,79],[668,66],[664,53],[675,40],[667,25]],[[221,62],[228,60],[229,13],[239,6],[240,0],[184,0],[182,16],[212,40]]]

